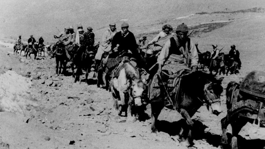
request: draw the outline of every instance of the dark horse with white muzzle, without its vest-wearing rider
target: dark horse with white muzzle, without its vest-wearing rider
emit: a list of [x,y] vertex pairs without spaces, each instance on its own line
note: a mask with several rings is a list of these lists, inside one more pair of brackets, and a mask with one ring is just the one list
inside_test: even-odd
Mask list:
[[[180,76],[178,76],[178,78],[180,78]],[[149,88],[152,88],[151,84],[153,83],[153,79],[149,83]],[[223,77],[216,79],[214,76],[202,71],[186,73],[181,76],[180,81],[176,83],[178,84],[178,88],[174,88],[173,94],[171,94],[172,104],[166,104],[168,103],[168,98],[165,97],[169,96],[169,94],[167,94],[168,92],[163,93],[160,91],[160,93],[157,93],[158,96],[156,94],[151,97],[150,93],[155,91],[148,89],[149,98],[152,98],[150,99],[152,111],[152,132],[156,133],[156,124],[158,122],[157,118],[161,110],[164,107],[167,107],[177,110],[186,120],[189,129],[181,132],[181,142],[185,141],[188,144],[193,144],[192,127],[194,122],[191,117],[195,114],[195,112],[203,104],[207,104],[208,110],[215,115],[219,115],[222,112],[220,100],[220,95],[223,92],[223,88],[221,86],[222,80]],[[173,84],[173,87],[174,85],[175,84]],[[176,86],[177,85],[175,85],[175,87]],[[162,90],[161,87],[160,90]]]

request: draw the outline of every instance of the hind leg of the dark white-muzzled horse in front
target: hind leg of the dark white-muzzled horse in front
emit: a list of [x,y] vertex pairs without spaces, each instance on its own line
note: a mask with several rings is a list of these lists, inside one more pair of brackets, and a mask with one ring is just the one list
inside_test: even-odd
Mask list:
[[159,96],[157,97],[158,100],[152,100],[151,102],[151,113],[152,113],[152,124],[151,124],[151,130],[152,132],[156,133],[156,124],[157,124],[157,118],[161,112],[161,110],[164,108],[165,102],[162,100],[162,98]]

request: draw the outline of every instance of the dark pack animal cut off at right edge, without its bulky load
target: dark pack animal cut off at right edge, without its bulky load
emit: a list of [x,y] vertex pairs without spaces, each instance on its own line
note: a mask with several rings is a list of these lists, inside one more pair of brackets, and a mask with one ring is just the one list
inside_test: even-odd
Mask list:
[[[252,72],[253,73],[253,72]],[[247,122],[256,123],[260,125],[259,116],[263,115],[263,125],[265,124],[264,119],[264,74],[263,82],[254,84],[255,89],[263,88],[263,94],[249,92],[246,89],[241,88],[242,86],[237,84],[234,81],[231,81],[226,88],[226,97],[227,97],[227,116],[221,120],[222,124],[222,139],[221,139],[221,148],[232,148],[237,149],[237,137],[241,128],[247,124]],[[247,82],[251,82],[251,79],[247,79]],[[263,110],[263,111],[262,111]],[[232,127],[232,140],[231,146],[228,144],[227,139],[227,126],[231,124]],[[265,145],[264,145],[265,147]],[[255,147],[253,147],[255,148]]]

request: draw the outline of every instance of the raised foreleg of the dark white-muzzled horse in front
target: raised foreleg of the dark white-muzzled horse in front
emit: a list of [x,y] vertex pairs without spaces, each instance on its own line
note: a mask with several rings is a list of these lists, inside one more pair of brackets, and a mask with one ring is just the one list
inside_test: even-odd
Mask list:
[[[188,112],[185,109],[180,109],[180,114],[182,117],[186,120],[188,126],[189,126],[189,132],[188,132],[188,138],[187,138],[187,146],[193,144],[193,137],[192,137],[192,128],[194,122],[192,121],[191,117],[189,116]],[[181,138],[182,139],[182,138]]]

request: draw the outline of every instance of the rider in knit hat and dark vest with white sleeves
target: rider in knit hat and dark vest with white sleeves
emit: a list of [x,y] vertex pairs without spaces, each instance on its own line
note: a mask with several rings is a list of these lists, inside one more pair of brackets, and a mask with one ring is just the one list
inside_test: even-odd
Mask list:
[[199,57],[194,42],[187,34],[188,26],[182,23],[177,26],[176,36],[166,41],[157,58],[158,74],[162,69],[170,75],[182,69],[196,71]]

